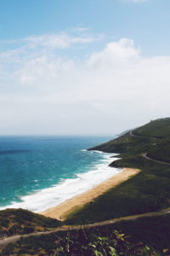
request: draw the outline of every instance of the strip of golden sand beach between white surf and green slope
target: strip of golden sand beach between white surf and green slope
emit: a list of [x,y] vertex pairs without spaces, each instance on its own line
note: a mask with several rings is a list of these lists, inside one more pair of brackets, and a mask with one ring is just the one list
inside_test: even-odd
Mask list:
[[126,181],[129,177],[139,173],[139,169],[133,168],[124,168],[122,172],[117,173],[115,176],[110,177],[105,182],[100,183],[93,189],[88,190],[87,192],[77,195],[70,200],[64,201],[59,204],[57,207],[52,207],[46,210],[45,212],[39,212],[46,217],[57,218],[59,220],[65,220],[65,217],[69,213],[75,211],[76,209],[82,207],[90,201],[93,201],[94,198],[99,195],[104,194],[107,190],[116,187],[116,185]]

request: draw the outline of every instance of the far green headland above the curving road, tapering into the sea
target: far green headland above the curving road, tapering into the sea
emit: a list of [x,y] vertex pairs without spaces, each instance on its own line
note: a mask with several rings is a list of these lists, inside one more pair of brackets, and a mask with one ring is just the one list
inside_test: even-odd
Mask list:
[[89,150],[120,153],[121,157],[147,154],[155,160],[170,162],[170,118],[150,121],[122,137]]

